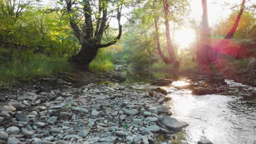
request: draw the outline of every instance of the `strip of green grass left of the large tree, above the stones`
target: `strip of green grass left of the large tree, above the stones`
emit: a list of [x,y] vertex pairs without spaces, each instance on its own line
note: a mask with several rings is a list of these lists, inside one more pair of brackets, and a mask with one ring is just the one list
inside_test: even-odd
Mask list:
[[14,81],[30,81],[62,71],[71,70],[66,58],[52,58],[35,55],[27,61],[10,61],[0,65],[0,87],[9,86]]

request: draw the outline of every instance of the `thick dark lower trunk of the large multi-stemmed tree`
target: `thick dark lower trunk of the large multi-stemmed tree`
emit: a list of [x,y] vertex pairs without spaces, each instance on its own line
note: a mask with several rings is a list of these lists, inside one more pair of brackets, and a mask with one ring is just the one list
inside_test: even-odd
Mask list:
[[81,50],[71,58],[72,62],[81,67],[80,69],[89,70],[89,64],[96,57],[99,48],[91,43],[82,44]]

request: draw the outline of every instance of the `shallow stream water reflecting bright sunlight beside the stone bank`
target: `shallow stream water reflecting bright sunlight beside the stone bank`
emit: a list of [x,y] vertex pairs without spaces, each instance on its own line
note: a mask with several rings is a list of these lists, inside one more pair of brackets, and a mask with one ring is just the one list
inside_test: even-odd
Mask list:
[[[125,73],[126,82],[135,89],[147,91],[152,88],[148,81],[163,77],[164,73],[132,71]],[[229,95],[192,95],[189,89],[174,86],[189,85],[184,79],[165,87],[171,92],[173,117],[188,122],[189,127],[178,134],[178,143],[197,143],[202,138],[214,144],[256,144],[256,88],[231,80],[228,82]]]

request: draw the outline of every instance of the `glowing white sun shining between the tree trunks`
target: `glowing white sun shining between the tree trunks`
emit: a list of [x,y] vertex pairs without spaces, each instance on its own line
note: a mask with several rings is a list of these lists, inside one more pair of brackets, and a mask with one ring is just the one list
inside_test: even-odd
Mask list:
[[179,29],[175,32],[174,43],[179,45],[179,49],[187,49],[195,40],[195,31],[191,28]]

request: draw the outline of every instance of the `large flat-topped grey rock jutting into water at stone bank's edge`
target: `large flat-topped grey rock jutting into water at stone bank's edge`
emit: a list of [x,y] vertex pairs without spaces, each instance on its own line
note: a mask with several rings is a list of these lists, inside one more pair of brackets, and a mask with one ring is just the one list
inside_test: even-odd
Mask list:
[[172,118],[169,116],[164,116],[160,118],[160,121],[166,125],[167,128],[170,130],[179,131],[182,128],[188,127],[189,124],[187,122],[179,121],[176,118]]

